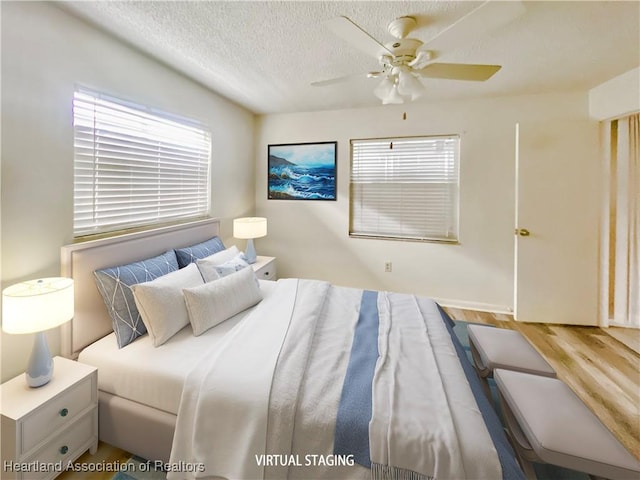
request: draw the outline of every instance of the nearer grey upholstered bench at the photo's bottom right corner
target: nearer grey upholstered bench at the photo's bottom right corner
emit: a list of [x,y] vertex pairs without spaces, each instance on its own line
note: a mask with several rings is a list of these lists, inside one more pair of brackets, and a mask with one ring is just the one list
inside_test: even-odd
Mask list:
[[573,391],[557,378],[496,369],[507,431],[528,478],[529,462],[546,462],[594,479],[640,478],[631,455]]

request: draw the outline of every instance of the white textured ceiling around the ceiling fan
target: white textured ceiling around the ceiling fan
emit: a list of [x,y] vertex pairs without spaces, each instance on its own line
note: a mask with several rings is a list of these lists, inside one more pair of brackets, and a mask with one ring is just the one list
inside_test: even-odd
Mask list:
[[[481,4],[82,1],[62,6],[253,112],[277,113],[380,104],[372,93],[379,80],[364,75],[377,69],[377,60],[335,36],[326,20],[347,16],[384,43],[392,39],[387,24],[412,15],[418,27],[410,36],[427,42]],[[417,101],[589,89],[640,65],[640,2],[522,5],[523,13],[506,23],[484,15],[479,27],[454,27],[446,42],[433,44],[438,61],[502,65],[494,77],[423,80],[427,93]],[[310,85],[352,74],[363,75],[331,86]]]

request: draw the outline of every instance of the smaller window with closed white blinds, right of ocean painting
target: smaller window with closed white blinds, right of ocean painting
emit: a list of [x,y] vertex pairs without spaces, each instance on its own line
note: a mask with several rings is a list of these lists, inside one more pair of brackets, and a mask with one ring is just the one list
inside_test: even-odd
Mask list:
[[351,236],[458,240],[460,138],[351,141]]

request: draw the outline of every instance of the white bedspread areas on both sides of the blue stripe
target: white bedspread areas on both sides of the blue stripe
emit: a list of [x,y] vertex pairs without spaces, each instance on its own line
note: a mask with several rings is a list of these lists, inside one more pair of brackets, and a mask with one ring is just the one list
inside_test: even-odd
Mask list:
[[[325,282],[280,280],[211,352],[210,362],[188,375],[171,462],[203,464],[204,471],[167,478],[367,478],[370,471],[358,465],[305,464],[309,454],[329,458],[333,452],[361,294]],[[501,478],[435,303],[380,292],[378,311],[371,472],[378,478]],[[279,462],[265,469],[258,461],[265,453]]]

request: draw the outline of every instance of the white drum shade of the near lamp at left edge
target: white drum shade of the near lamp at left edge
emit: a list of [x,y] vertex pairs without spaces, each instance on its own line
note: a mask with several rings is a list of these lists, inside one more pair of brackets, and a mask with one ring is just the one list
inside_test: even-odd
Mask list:
[[2,291],[2,329],[35,333],[73,318],[73,280],[51,277],[17,283]]

